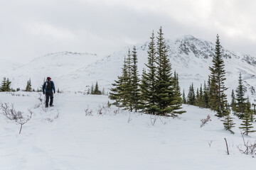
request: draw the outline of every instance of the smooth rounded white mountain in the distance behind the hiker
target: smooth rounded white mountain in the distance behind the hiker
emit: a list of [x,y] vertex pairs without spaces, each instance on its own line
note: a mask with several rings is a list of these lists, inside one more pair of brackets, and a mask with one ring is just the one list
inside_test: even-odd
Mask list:
[[[38,89],[43,84],[43,80],[46,77],[51,77],[55,82],[55,85],[63,89],[63,86],[59,84],[60,79],[65,78],[71,72],[75,72],[77,69],[86,67],[97,60],[100,60],[100,56],[77,53],[77,52],[56,52],[42,57],[38,57],[28,64],[23,64],[14,70],[1,74],[1,77],[9,77],[12,81],[14,88],[25,89],[26,82],[31,79],[32,88]],[[71,77],[69,77],[71,79]],[[70,84],[73,82],[66,81],[63,84]]]

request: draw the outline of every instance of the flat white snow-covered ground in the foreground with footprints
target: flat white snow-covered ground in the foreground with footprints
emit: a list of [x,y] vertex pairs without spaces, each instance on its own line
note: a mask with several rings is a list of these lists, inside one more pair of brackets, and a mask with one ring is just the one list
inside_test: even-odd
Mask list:
[[[20,135],[20,126],[0,114],[1,170],[235,170],[256,166],[256,158],[238,150],[243,142],[237,118],[232,135],[213,111],[195,106],[184,105],[187,112],[178,118],[157,118],[108,108],[107,96],[55,94],[55,106],[48,109],[39,97],[38,93],[0,93],[2,103],[14,103],[24,115],[29,115],[28,108],[33,111]],[[86,115],[86,109],[92,115]],[[211,121],[200,128],[207,115]],[[245,136],[247,140],[254,143],[256,133]]]

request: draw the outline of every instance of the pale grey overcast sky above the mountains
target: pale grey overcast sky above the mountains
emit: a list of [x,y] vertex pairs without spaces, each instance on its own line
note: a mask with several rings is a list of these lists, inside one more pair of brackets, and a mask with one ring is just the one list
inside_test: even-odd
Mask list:
[[0,0],[0,58],[29,62],[50,52],[109,55],[164,37],[193,35],[256,57],[254,0]]

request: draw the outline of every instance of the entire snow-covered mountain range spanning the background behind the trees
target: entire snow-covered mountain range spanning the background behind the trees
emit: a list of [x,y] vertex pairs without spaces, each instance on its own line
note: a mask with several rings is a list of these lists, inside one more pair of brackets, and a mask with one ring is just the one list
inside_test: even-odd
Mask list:
[[[139,73],[142,73],[144,63],[147,62],[148,43],[136,45]],[[195,88],[199,88],[204,81],[208,80],[210,74],[208,68],[212,66],[215,50],[214,42],[185,35],[180,38],[166,39],[166,45],[173,70],[178,72],[181,89],[188,91],[191,83]],[[13,86],[21,89],[26,86],[29,78],[31,78],[33,88],[37,89],[43,83],[43,79],[50,76],[56,86],[64,91],[86,91],[96,81],[100,88],[104,87],[108,90],[114,79],[121,74],[121,67],[124,56],[127,56],[128,48],[132,50],[132,46],[125,47],[107,57],[73,52],[48,54],[7,73],[0,72],[0,78],[9,77]],[[256,58],[226,50],[224,47],[223,56],[228,94],[238,86],[238,75],[241,72],[247,92],[249,92],[247,94],[251,98],[256,98],[254,88],[256,86]]]

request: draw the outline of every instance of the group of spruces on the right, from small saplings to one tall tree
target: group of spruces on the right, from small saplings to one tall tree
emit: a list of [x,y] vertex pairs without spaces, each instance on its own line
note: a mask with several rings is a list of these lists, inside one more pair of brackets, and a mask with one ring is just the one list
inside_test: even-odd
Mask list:
[[[230,110],[233,114],[242,119],[240,129],[243,130],[244,134],[248,135],[252,130],[252,122],[255,121],[253,111],[251,109],[251,103],[249,97],[245,98],[245,86],[242,84],[242,74],[239,74],[238,88],[232,91],[231,104],[228,104],[227,95],[225,91],[225,64],[221,53],[221,45],[219,36],[217,35],[215,43],[215,55],[213,56],[213,66],[209,67],[210,75],[208,77],[208,83],[204,81],[204,84],[196,90],[193,84],[188,89],[188,95],[186,97],[183,90],[183,103],[198,106],[201,108],[210,108],[216,112],[216,116],[223,118],[223,125],[226,130],[234,133],[232,128],[235,127],[233,118],[230,115]],[[230,109],[231,108],[231,109]]]

